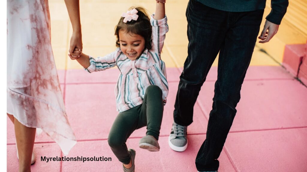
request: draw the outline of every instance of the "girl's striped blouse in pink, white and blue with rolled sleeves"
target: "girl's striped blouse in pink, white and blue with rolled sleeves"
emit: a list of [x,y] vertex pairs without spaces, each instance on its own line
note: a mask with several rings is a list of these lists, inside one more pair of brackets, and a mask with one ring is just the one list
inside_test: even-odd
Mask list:
[[90,56],[91,65],[85,69],[89,73],[109,69],[117,66],[120,70],[115,87],[116,110],[123,112],[143,103],[146,88],[157,85],[161,88],[164,105],[168,95],[168,83],[166,80],[165,63],[161,60],[161,50],[165,40],[165,34],[169,27],[167,17],[161,20],[153,19],[152,25],[152,50],[145,49],[136,60],[130,60],[122,53],[120,48],[104,57],[93,58]]

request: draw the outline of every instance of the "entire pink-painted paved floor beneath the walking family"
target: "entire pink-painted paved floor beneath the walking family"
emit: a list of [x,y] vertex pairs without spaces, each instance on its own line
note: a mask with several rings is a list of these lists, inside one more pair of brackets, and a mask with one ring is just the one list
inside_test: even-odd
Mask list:
[[[146,129],[135,131],[127,140],[134,148],[136,172],[197,171],[195,157],[205,139],[212,108],[216,67],[212,67],[194,107],[188,127],[185,152],[172,151],[168,135],[173,122],[179,76],[182,69],[168,68],[168,103],[165,106],[159,143],[161,151],[138,148]],[[44,162],[41,156],[62,156],[59,146],[44,133],[36,137],[37,156],[33,171],[121,171],[121,163],[107,144],[116,117],[114,87],[119,71],[109,69],[89,74],[84,70],[59,70],[59,79],[70,124],[77,144],[67,157],[111,157],[103,162]],[[279,66],[251,66],[242,86],[237,114],[220,155],[219,172],[287,172],[307,169],[307,88]],[[7,119],[7,171],[16,171],[18,160],[14,126]]]

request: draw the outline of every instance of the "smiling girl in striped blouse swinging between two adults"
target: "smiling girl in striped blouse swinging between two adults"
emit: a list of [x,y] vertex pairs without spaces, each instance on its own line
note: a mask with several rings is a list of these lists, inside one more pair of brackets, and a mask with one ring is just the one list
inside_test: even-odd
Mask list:
[[[139,147],[159,151],[163,105],[168,95],[165,63],[160,54],[168,32],[164,3],[157,2],[149,18],[142,7],[131,7],[122,14],[115,27],[115,52],[92,58],[76,48],[72,55],[89,73],[117,66],[120,75],[115,87],[119,111],[108,137],[108,143],[123,163],[123,170],[134,171],[135,150],[127,149],[126,140],[134,130],[147,126]],[[71,54],[69,54],[71,57]],[[71,57],[72,58],[72,57]]]

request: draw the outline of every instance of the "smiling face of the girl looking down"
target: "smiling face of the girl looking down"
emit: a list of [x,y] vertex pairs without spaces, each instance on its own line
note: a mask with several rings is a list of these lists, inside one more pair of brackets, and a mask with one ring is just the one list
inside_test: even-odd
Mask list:
[[130,60],[139,58],[145,48],[144,37],[137,34],[126,33],[125,30],[119,31],[119,43],[120,49]]

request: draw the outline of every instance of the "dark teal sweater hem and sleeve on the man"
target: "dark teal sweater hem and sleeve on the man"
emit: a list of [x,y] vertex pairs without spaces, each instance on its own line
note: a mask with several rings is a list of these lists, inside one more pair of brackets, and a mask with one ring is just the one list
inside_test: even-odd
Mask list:
[[[222,11],[245,12],[264,9],[266,0],[197,0],[198,2]],[[288,0],[271,0],[271,12],[266,16],[266,20],[280,24],[282,17],[286,14]]]

